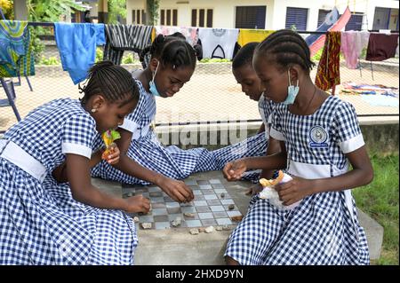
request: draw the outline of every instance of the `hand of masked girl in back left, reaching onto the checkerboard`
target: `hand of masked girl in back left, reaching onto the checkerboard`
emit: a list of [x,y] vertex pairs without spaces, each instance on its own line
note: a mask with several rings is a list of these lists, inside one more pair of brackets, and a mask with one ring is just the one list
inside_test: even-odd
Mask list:
[[169,177],[163,177],[157,182],[160,188],[167,193],[172,200],[178,202],[190,202],[195,198],[192,190],[182,181],[174,180]]

